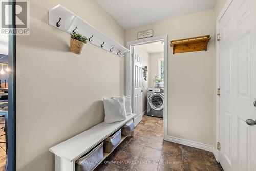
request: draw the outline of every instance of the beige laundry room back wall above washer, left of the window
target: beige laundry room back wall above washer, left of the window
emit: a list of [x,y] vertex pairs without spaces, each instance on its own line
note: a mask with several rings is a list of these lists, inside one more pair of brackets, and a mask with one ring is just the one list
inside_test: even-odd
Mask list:
[[150,54],[150,78],[149,86],[154,87],[153,78],[158,77],[158,59],[163,59],[163,53]]

